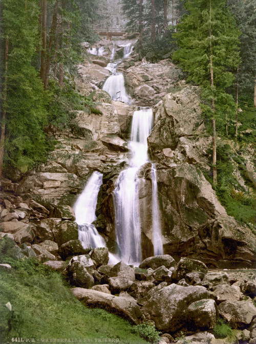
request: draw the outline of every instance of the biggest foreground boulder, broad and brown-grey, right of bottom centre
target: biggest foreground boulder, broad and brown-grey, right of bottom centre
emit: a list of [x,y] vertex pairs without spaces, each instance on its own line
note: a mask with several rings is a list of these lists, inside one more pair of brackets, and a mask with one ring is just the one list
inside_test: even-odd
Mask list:
[[210,293],[202,286],[182,287],[171,284],[151,291],[151,297],[142,307],[142,312],[151,317],[158,330],[177,332],[186,325],[188,306],[210,298]]

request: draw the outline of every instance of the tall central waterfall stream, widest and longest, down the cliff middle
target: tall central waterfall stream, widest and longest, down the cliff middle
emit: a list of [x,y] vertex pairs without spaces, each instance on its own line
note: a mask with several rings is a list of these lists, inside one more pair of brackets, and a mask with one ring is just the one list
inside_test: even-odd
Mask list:
[[141,226],[139,216],[137,173],[148,161],[147,136],[153,123],[151,108],[140,108],[134,112],[131,141],[130,167],[122,171],[114,190],[116,213],[116,240],[120,258],[126,263],[138,264],[141,261]]

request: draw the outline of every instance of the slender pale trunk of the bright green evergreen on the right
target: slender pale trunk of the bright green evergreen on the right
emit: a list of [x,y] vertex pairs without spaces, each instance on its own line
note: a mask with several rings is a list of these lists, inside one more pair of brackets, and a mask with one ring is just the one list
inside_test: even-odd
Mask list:
[[[209,27],[209,41],[210,41],[210,86],[214,87],[214,70],[212,67],[212,46],[211,46],[211,0],[210,0],[210,27]],[[211,99],[211,111],[212,111],[212,172],[214,177],[214,184],[217,185],[217,168],[216,168],[216,125],[215,125],[215,102],[214,96]]]

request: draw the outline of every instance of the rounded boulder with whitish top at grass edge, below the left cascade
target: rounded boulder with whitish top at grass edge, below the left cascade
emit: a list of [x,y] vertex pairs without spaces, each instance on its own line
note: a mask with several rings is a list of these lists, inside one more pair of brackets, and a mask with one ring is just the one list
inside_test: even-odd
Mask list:
[[73,257],[64,271],[71,284],[83,288],[94,285],[93,272],[94,264],[89,255]]

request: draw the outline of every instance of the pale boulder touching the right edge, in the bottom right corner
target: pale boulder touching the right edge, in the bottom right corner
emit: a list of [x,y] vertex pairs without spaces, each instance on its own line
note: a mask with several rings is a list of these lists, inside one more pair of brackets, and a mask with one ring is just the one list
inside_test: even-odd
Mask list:
[[227,300],[219,305],[219,312],[231,327],[243,329],[256,316],[256,307],[251,300]]

